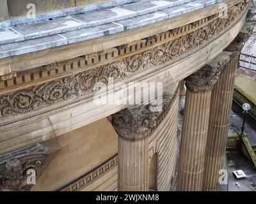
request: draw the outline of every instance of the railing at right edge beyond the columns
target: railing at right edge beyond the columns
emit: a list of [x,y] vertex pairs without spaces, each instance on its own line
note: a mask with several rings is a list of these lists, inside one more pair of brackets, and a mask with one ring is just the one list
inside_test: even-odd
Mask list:
[[256,73],[256,55],[248,52],[241,52],[238,67]]

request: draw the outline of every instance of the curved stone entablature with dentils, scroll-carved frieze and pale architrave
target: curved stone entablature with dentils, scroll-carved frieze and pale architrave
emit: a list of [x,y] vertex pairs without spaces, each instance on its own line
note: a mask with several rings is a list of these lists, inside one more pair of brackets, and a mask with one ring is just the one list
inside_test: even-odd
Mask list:
[[[25,71],[22,83],[17,85],[13,80],[10,87],[0,90],[0,138],[2,135],[8,137],[10,126],[29,126],[45,118],[49,118],[59,136],[124,109],[122,105],[99,107],[93,104],[93,85],[95,82],[108,84],[108,77],[127,83],[172,76],[170,83],[179,82],[214,59],[234,40],[246,19],[246,3],[241,1],[231,6],[228,18],[214,13],[179,28],[153,33],[150,37],[103,52],[101,49],[70,61],[33,68],[28,77]],[[31,81],[36,78],[33,71],[42,78]],[[19,77],[18,73],[16,79]],[[4,84],[8,85],[6,81]],[[10,145],[17,145],[14,139],[12,144],[3,141],[4,147],[10,149]],[[29,142],[29,138],[26,141]],[[0,147],[1,143],[0,140]]]

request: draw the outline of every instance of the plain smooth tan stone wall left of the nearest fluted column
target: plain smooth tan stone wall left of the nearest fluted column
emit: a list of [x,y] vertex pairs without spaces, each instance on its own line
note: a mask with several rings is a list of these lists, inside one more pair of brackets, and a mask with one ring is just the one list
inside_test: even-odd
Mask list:
[[[44,171],[31,191],[63,189],[67,184],[83,177],[84,174],[115,156],[117,141],[118,137],[106,118],[58,136],[58,142],[62,147],[61,152]],[[86,186],[84,190],[109,189],[113,191],[117,187],[116,180],[117,166],[102,173],[100,177],[93,175],[92,184]]]

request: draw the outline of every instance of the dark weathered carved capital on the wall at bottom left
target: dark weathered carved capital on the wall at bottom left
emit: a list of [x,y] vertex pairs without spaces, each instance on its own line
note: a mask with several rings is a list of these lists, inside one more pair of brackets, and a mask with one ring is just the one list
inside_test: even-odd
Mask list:
[[34,170],[37,179],[47,157],[48,148],[40,144],[0,155],[0,191],[29,191],[28,170]]

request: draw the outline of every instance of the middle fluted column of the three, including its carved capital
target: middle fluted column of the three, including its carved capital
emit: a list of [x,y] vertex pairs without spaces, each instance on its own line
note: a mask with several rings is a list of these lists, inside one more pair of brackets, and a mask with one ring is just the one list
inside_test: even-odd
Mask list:
[[[226,58],[214,64],[225,64]],[[207,64],[186,78],[177,191],[202,191],[211,95],[220,73],[220,66]]]

